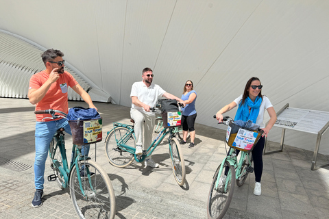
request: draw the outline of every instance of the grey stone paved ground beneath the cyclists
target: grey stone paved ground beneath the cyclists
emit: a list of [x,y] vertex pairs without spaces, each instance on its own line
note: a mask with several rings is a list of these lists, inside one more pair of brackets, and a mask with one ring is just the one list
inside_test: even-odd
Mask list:
[[[69,103],[70,107],[83,102]],[[112,122],[128,123],[129,108],[96,103],[103,117],[103,138]],[[34,107],[26,99],[0,98],[0,218],[77,218],[68,190],[45,183],[44,204],[31,207],[34,196]],[[211,113],[210,113],[211,116]],[[215,121],[214,121],[215,123]],[[212,175],[225,157],[225,131],[196,125],[194,149],[183,146],[186,184],[175,183],[166,142],[154,151],[160,168],[133,163],[111,166],[103,142],[90,151],[108,172],[117,198],[116,218],[207,218],[206,201]],[[66,145],[71,142],[66,138]],[[270,148],[278,144],[270,143]],[[91,149],[90,149],[91,150]],[[68,148],[67,151],[70,151]],[[254,174],[236,188],[225,218],[328,218],[329,168],[310,170],[312,151],[284,146],[282,153],[264,156],[262,195],[254,196]],[[68,154],[68,157],[71,157]],[[329,156],[319,155],[318,164]],[[47,161],[46,174],[51,175]]]

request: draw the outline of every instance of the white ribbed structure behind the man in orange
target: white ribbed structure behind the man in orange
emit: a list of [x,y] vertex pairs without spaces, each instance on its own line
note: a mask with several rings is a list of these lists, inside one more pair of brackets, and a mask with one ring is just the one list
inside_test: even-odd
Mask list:
[[[44,51],[32,43],[0,31],[1,97],[27,98],[29,79],[35,73],[45,69],[45,64],[41,59]],[[92,89],[71,68],[64,66],[64,70],[71,73],[84,90],[89,92]],[[68,96],[69,100],[82,100],[81,96],[71,89],[68,91]]]

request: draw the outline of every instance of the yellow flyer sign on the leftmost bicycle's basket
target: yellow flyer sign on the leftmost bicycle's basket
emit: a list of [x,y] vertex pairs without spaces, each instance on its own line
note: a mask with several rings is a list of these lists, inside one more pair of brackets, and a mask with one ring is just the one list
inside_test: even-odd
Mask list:
[[84,121],[84,143],[99,142],[102,139],[102,120]]

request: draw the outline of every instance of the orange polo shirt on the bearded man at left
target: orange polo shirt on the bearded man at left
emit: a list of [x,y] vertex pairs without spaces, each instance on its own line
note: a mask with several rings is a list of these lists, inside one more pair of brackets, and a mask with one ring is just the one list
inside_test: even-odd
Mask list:
[[[29,89],[38,89],[44,84],[49,75],[45,70],[42,70],[40,73],[32,75],[29,79]],[[67,98],[67,90],[69,86],[72,88],[77,85],[74,77],[64,71],[63,74],[60,74],[60,78],[51,84],[46,95],[42,98],[41,101],[36,103],[36,110],[60,110],[64,113],[69,112],[69,103]],[[50,114],[36,114],[36,121],[40,122],[42,118],[50,117]],[[49,120],[45,120],[49,121]]]

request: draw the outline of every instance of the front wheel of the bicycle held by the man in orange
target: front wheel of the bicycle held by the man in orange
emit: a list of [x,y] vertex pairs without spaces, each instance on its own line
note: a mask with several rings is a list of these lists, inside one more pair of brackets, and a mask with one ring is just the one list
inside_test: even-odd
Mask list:
[[[84,172],[94,172],[93,177],[81,179],[82,190],[77,179],[77,171],[84,166]],[[73,207],[80,218],[114,218],[115,195],[110,178],[96,162],[82,160],[73,167],[70,175],[70,193]]]

